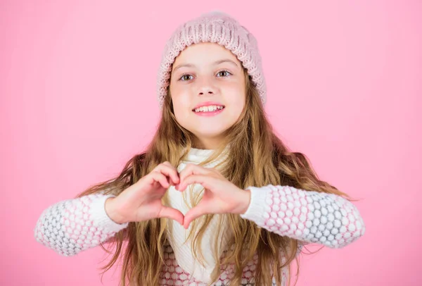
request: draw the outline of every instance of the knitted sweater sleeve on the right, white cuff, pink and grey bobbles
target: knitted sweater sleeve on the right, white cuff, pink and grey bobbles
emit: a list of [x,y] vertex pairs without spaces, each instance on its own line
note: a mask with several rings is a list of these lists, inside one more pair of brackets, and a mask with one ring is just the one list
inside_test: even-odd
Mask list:
[[246,189],[250,190],[250,205],[241,217],[260,228],[330,248],[345,247],[364,235],[357,207],[337,194],[281,185]]

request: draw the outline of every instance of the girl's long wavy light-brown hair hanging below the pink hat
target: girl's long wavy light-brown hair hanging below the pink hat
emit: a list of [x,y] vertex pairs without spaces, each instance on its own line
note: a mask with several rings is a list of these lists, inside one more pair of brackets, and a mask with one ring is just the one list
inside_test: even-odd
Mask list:
[[[269,184],[290,185],[299,189],[338,194],[351,200],[347,194],[319,180],[307,157],[302,153],[289,151],[274,134],[257,89],[252,85],[248,73],[245,71],[244,74],[245,108],[238,121],[225,132],[226,142],[230,142],[231,148],[221,170],[222,175],[240,188]],[[117,195],[151,172],[159,163],[169,161],[173,166],[178,166],[181,158],[193,147],[193,138],[191,132],[177,123],[172,99],[168,94],[163,104],[158,130],[146,151],[133,156],[120,175],[89,187],[78,197],[95,192]],[[224,145],[207,161],[219,156],[223,149]],[[184,150],[186,151],[183,152]],[[207,215],[203,223],[194,225],[194,228],[198,228],[198,235],[193,237],[193,248],[197,249],[195,252],[200,253],[200,240],[211,218],[211,215]],[[228,249],[224,259],[217,260],[214,279],[220,274],[218,269],[232,265],[234,276],[230,285],[241,285],[243,268],[256,253],[259,256],[254,275],[255,285],[271,285],[271,276],[278,281],[277,285],[280,285],[281,268],[290,269],[290,263],[295,259],[299,272],[296,256],[298,240],[258,228],[255,223],[238,215],[226,214],[224,218],[233,229],[233,235],[229,239],[229,245],[233,247]],[[103,271],[108,271],[117,260],[122,259],[122,285],[128,285],[128,282],[130,285],[159,285],[160,272],[165,267],[163,245],[167,243],[166,225],[167,220],[164,218],[129,223],[113,240],[101,244],[103,249],[113,254],[112,259],[102,268]],[[286,258],[284,263],[280,253]],[[290,275],[288,280],[290,285]]]

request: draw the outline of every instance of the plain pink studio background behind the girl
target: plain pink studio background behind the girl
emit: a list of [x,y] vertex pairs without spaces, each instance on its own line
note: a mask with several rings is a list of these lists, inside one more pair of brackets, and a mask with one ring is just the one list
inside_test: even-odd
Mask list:
[[59,256],[37,218],[146,146],[165,40],[215,9],[258,39],[276,132],[361,199],[364,237],[302,256],[298,285],[421,285],[421,1],[60,2],[0,4],[0,285],[101,285],[101,248]]

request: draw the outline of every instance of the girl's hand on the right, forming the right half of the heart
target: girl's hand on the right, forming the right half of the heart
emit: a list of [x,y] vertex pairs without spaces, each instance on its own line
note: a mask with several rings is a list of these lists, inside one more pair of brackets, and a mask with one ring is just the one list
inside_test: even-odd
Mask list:
[[184,228],[187,229],[192,220],[205,214],[245,213],[250,204],[250,192],[229,182],[215,168],[205,168],[188,163],[179,173],[180,182],[176,189],[184,191],[188,185],[200,184],[204,194],[198,205],[190,209],[184,216]]

